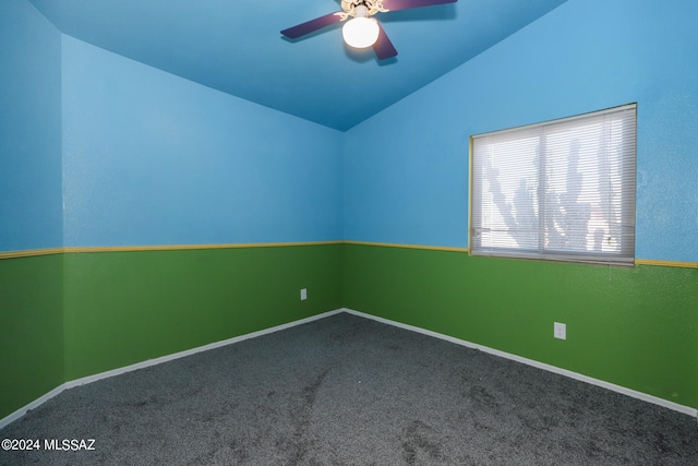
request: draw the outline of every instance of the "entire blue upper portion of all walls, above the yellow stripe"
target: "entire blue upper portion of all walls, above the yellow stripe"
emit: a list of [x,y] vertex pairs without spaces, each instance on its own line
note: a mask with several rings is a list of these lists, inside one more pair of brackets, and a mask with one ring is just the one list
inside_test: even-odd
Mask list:
[[698,261],[695,2],[570,0],[345,134],[1,8],[0,250],[468,247],[469,135],[637,101],[636,255]]

